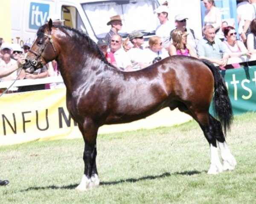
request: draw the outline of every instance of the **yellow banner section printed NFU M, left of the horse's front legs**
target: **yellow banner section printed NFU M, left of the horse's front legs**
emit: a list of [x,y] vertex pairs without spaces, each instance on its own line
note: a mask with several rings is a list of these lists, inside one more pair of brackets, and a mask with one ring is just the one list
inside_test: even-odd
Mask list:
[[0,97],[0,145],[81,133],[66,108],[66,89]]

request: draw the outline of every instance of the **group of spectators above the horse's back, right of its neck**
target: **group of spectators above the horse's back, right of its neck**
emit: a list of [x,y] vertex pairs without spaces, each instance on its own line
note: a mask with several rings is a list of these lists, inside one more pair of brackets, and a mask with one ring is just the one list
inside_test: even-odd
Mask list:
[[[118,56],[116,60],[118,68],[124,71],[135,71],[172,55],[208,59],[221,70],[239,68],[239,63],[227,65],[227,62],[230,57],[250,58],[256,53],[256,10],[254,10],[256,0],[240,1],[238,4],[238,28],[229,25],[227,21],[221,21],[221,10],[216,7],[214,0],[203,0],[203,4],[206,8],[203,19],[203,37],[196,36],[193,29],[186,27],[189,19],[185,14],[175,16],[175,28],[173,28],[171,20],[168,19],[168,6],[161,5],[155,10],[160,25],[156,28],[156,36],[148,40],[147,46],[143,46],[144,35],[140,31],[133,31],[122,43],[120,42],[121,36],[118,40],[113,40],[111,37],[116,36],[117,32],[122,29],[122,19],[119,15],[111,17],[108,22],[108,25],[111,25],[111,31],[106,36],[110,51],[115,53],[119,43],[118,53],[123,50],[128,54],[127,56],[125,52],[122,52],[122,57],[114,54],[114,57]],[[246,12],[249,6],[250,12]],[[247,25],[249,26],[246,28]],[[241,29],[244,31],[240,31]],[[236,30],[240,31],[239,34]],[[125,65],[122,62],[125,62]]]

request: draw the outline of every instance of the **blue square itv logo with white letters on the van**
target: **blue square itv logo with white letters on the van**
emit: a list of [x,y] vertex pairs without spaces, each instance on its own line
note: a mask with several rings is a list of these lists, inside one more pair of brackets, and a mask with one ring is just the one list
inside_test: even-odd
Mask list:
[[29,28],[37,30],[46,23],[48,16],[49,4],[31,2],[29,11]]

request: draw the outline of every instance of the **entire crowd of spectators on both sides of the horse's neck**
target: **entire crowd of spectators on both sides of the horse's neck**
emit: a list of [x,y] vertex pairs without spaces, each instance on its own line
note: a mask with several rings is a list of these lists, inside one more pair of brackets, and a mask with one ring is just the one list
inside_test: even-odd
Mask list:
[[[169,19],[168,5],[161,5],[155,13],[160,22],[155,30],[155,36],[144,42],[144,34],[132,31],[125,40],[119,35],[122,30],[120,15],[110,17],[107,26],[111,26],[105,38],[99,39],[97,44],[113,67],[122,71],[136,71],[148,67],[166,57],[185,55],[195,58],[208,59],[221,70],[239,68],[239,63],[227,65],[230,57],[251,57],[256,54],[256,0],[239,1],[237,5],[238,28],[221,21],[221,10],[216,7],[214,0],[203,0],[206,8],[204,13],[203,37],[197,36],[192,28],[187,28],[189,18],[186,14],[177,14]],[[62,20],[59,20],[61,23]],[[58,23],[58,20],[55,20]],[[20,55],[25,54],[31,44],[10,44],[1,39],[0,67],[8,67],[17,62]],[[19,73],[20,72],[20,73]],[[55,61],[47,64],[34,74],[25,70],[17,70],[2,77],[1,80],[38,79],[59,74]],[[19,87],[11,91],[32,91],[52,88],[53,85],[34,85]]]

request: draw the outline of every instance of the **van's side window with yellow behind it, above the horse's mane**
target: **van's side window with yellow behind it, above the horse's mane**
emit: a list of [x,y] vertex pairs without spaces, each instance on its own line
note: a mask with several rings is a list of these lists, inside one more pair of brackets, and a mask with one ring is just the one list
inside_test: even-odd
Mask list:
[[87,34],[85,30],[83,21],[77,11],[76,7],[74,6],[62,6],[61,7],[61,16],[64,19],[64,26],[75,28],[79,31],[83,31]]

